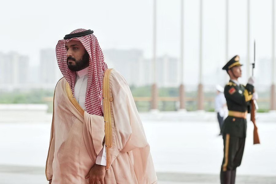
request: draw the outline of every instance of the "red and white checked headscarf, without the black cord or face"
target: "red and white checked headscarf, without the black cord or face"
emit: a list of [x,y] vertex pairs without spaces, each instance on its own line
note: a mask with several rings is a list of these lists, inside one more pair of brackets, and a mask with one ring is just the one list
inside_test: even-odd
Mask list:
[[[76,29],[72,33],[79,33],[86,31],[86,29]],[[59,69],[63,74],[64,78],[69,83],[72,93],[74,95],[74,86],[76,72],[71,71],[67,66],[66,61],[66,48],[65,44],[71,39],[59,40],[56,45],[56,59],[59,65]],[[102,80],[107,65],[104,62],[104,56],[102,49],[98,43],[96,36],[89,34],[86,36],[77,37],[82,43],[84,48],[89,54],[89,72],[87,78],[86,97],[85,97],[85,108],[89,114],[103,116],[102,106]]]

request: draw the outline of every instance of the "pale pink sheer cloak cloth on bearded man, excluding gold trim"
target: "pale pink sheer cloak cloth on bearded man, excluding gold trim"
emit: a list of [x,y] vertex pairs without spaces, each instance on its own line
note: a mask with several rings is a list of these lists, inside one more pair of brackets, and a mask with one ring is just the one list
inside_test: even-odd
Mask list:
[[[85,176],[102,150],[104,119],[86,112],[83,117],[69,101],[65,86],[65,79],[56,86],[46,177],[52,179],[52,184],[88,184]],[[109,90],[113,97],[113,144],[105,183],[157,183],[149,144],[129,86],[114,69]]]

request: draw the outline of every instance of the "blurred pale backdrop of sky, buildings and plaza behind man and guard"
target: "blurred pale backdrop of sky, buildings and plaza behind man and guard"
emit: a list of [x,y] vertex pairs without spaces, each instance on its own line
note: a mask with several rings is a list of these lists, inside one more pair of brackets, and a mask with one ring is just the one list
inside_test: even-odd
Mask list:
[[246,84],[254,40],[260,145],[248,133],[237,183],[276,183],[275,0],[1,2],[1,184],[44,176],[52,101],[62,77],[55,47],[94,30],[109,68],[128,81],[160,183],[219,183],[223,141],[214,112],[221,68],[240,55]]

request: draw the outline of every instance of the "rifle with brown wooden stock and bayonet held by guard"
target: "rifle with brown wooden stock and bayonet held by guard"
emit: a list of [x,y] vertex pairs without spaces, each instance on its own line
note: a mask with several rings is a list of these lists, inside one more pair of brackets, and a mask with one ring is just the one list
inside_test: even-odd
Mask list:
[[[252,63],[252,76],[253,76],[253,71],[255,68],[255,40],[254,40],[254,63]],[[253,144],[260,144],[260,139],[259,139],[259,134],[258,134],[258,128],[256,126],[256,121],[255,121],[255,113],[256,109],[258,109],[258,105],[256,100],[251,100],[251,117],[250,120],[253,122],[254,125],[254,130],[253,130]]]

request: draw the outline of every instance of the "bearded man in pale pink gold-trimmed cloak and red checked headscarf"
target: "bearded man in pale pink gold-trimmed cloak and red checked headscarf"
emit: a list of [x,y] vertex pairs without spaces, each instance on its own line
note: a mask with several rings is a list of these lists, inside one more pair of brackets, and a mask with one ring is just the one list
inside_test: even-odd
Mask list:
[[93,31],[59,40],[46,178],[52,184],[155,184],[153,161],[131,91],[108,69]]

